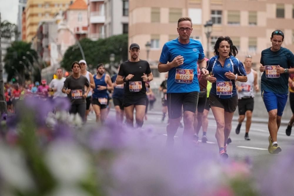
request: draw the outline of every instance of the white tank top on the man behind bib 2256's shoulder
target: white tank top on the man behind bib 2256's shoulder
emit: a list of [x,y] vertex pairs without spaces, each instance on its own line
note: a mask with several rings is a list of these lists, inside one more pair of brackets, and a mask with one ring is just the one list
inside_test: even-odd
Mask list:
[[247,74],[247,82],[238,82],[238,86],[241,86],[243,90],[238,92],[238,98],[243,97],[254,97],[253,86],[254,86],[254,74],[253,69]]

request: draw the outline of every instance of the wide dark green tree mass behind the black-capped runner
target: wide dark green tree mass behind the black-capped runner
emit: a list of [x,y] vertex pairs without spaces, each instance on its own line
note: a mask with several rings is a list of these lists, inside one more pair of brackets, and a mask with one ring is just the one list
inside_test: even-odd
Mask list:
[[[80,41],[88,65],[96,66],[98,63],[109,63],[111,53],[115,54],[115,62],[128,59],[128,35],[111,36],[106,39],[92,41],[84,38]],[[77,45],[70,46],[64,53],[61,67],[71,70],[71,63],[82,59],[81,51]]]

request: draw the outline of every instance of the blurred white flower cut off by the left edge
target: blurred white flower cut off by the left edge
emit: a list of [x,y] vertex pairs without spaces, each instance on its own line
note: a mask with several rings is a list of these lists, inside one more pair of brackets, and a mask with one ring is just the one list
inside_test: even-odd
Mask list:
[[25,158],[19,149],[0,144],[0,175],[9,185],[27,190],[34,187]]

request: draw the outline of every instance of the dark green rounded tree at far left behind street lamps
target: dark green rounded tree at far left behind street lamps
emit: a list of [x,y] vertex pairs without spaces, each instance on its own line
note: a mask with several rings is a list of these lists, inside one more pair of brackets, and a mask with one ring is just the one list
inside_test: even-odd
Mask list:
[[[21,81],[18,82],[24,83],[24,79],[31,79],[30,76],[36,73],[36,69],[31,67],[29,62],[23,59],[23,56],[25,56],[33,64],[33,58],[27,54],[27,51],[37,58],[36,51],[31,49],[31,43],[14,41],[7,48],[7,54],[4,57],[4,69],[8,75],[7,81],[10,81],[13,77],[18,77],[21,78]],[[20,61],[23,63],[19,63]]]

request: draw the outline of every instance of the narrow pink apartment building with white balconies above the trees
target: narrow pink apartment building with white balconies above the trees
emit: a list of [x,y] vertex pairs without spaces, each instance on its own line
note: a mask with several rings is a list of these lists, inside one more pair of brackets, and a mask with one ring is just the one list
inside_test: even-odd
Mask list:
[[105,38],[104,0],[87,0],[88,3],[88,38],[98,40]]

